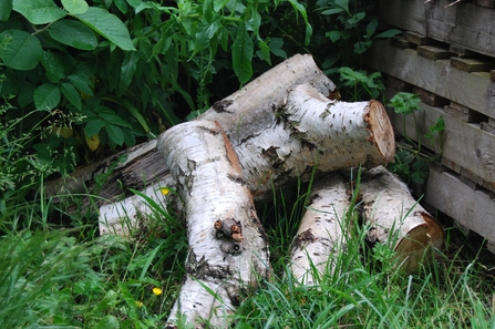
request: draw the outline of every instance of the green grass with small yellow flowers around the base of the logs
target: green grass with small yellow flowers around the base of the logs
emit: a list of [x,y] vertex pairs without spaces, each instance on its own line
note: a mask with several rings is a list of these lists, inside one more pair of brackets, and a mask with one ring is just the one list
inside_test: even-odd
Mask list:
[[[370,249],[365,228],[352,225],[332,270],[318,286],[298,285],[288,250],[308,188],[299,184],[292,198],[276,193],[266,206],[272,275],[256,291],[247,289],[236,328],[495,328],[494,269],[486,261],[493,255],[453,228],[435,263],[404,276],[388,266],[386,246]],[[56,206],[47,199],[10,204],[0,222],[1,327],[163,328],[184,276],[187,240],[163,216],[165,206],[154,206],[156,227],[123,238],[60,220],[54,226]],[[357,206],[341,219],[358,223]]]

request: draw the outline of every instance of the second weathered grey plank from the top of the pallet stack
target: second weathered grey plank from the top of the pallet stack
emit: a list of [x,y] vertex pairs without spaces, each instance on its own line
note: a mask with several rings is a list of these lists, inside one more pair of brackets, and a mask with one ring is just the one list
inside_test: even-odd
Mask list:
[[461,71],[452,68],[448,60],[432,61],[415,50],[394,48],[383,40],[374,42],[368,59],[375,70],[495,117],[495,83],[488,72]]

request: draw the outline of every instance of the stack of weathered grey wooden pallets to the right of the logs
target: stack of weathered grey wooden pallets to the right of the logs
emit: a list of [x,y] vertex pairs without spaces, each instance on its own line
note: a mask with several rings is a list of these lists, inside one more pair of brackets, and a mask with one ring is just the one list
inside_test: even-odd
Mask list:
[[[405,117],[388,109],[399,134],[432,152],[424,199],[488,240],[495,251],[495,9],[493,1],[379,1],[382,22],[403,35],[380,40],[369,66],[389,80],[388,95],[417,93],[425,111]],[[452,4],[452,6],[451,6]],[[439,116],[442,140],[424,137]]]

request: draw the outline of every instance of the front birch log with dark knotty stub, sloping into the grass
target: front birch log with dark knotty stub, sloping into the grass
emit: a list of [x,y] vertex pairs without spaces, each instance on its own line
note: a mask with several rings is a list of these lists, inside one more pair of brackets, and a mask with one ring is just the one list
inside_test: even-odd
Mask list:
[[[195,328],[228,327],[243,286],[268,275],[269,253],[236,153],[218,122],[195,121],[161,136],[184,201],[189,253],[186,279],[168,319]],[[214,291],[215,296],[208,291]]]

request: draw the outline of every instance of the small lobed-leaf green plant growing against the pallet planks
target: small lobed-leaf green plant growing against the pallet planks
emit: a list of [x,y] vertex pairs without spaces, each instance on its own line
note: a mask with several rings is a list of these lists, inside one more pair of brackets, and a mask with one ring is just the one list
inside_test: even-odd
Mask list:
[[[423,185],[430,174],[429,162],[435,161],[442,155],[442,148],[436,152],[434,156],[427,156],[421,151],[421,136],[417,132],[417,122],[415,113],[422,111],[420,105],[421,100],[416,94],[400,92],[396,93],[390,100],[390,106],[394,107],[395,113],[403,114],[403,136],[406,141],[405,145],[399,145],[399,150],[395,153],[395,162],[389,164],[389,169],[392,173],[396,173],[408,183],[415,183]],[[414,127],[419,142],[412,141],[406,133],[405,115],[412,115],[414,117]],[[445,130],[445,122],[442,116],[436,120],[436,123],[429,127],[429,132],[425,134],[433,145],[435,145],[435,138]],[[442,141],[442,136],[440,136]]]

